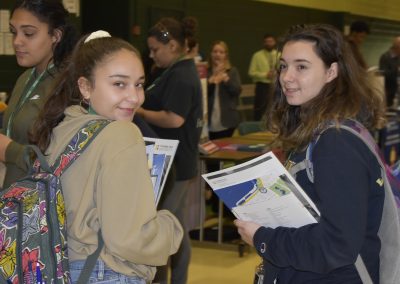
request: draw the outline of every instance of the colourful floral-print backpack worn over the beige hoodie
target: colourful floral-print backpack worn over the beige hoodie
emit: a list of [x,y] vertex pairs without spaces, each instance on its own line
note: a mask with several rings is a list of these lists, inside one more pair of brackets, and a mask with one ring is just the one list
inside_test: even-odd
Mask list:
[[[83,126],[52,167],[36,146],[27,147],[37,157],[33,167],[0,196],[1,283],[71,283],[60,176],[108,123],[93,120]],[[91,266],[101,247],[99,239],[99,248],[87,261]],[[88,278],[92,269],[81,277]]]

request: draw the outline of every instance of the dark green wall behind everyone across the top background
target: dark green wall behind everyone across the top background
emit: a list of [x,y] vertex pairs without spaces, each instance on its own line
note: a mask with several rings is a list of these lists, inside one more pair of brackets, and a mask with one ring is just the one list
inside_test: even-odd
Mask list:
[[[0,8],[9,8],[13,2],[1,0]],[[400,31],[400,21],[249,0],[81,0],[81,17],[74,20],[83,33],[105,29],[129,40],[143,52],[147,30],[160,17],[187,15],[199,21],[198,37],[203,56],[208,56],[213,41],[226,41],[231,61],[238,67],[244,83],[250,82],[248,64],[253,52],[261,48],[264,33],[279,36],[293,24],[317,22],[343,30],[354,19],[363,19],[370,23],[372,33],[362,51],[368,64],[376,65],[380,54],[388,49],[392,37]],[[132,33],[135,25],[140,27],[140,35]],[[0,91],[10,90],[21,71],[13,56],[0,56]]]

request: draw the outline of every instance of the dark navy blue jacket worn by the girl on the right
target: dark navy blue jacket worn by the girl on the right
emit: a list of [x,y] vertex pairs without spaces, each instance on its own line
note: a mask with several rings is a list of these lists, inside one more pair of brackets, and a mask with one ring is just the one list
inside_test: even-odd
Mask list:
[[[291,160],[300,162],[305,152]],[[264,283],[361,283],[354,266],[361,254],[379,283],[384,187],[375,156],[355,135],[331,128],[315,145],[314,183],[305,171],[296,180],[321,213],[319,223],[298,229],[261,227],[254,245],[266,267]],[[266,250],[261,253],[262,245]]]

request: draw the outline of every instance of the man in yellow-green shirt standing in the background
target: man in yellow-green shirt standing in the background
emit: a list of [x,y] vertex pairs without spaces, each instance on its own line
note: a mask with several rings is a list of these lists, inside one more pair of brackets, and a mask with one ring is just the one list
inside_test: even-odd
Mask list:
[[261,120],[271,102],[271,87],[275,78],[278,51],[276,40],[264,35],[264,48],[253,54],[248,74],[256,84],[254,96],[254,120]]

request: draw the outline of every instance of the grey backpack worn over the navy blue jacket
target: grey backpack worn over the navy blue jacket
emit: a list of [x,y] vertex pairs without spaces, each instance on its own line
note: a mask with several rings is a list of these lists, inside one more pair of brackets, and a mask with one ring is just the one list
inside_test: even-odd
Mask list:
[[[364,144],[375,155],[380,167],[381,175],[384,179],[385,200],[382,212],[381,225],[378,235],[381,240],[380,251],[380,283],[396,284],[400,279],[400,180],[392,173],[392,169],[385,163],[382,153],[376,144],[374,138],[361,123],[355,120],[345,120],[339,125],[340,129],[348,131],[364,142]],[[335,128],[335,123],[326,125],[323,131],[328,128]],[[323,132],[322,131],[322,132]],[[306,158],[297,163],[290,169],[290,173],[295,176],[300,170],[306,170],[308,179],[314,182],[314,172],[312,163],[312,150],[318,142],[320,132],[314,140],[308,145]],[[372,284],[372,279],[367,268],[358,255],[355,263],[357,271],[364,284]]]

